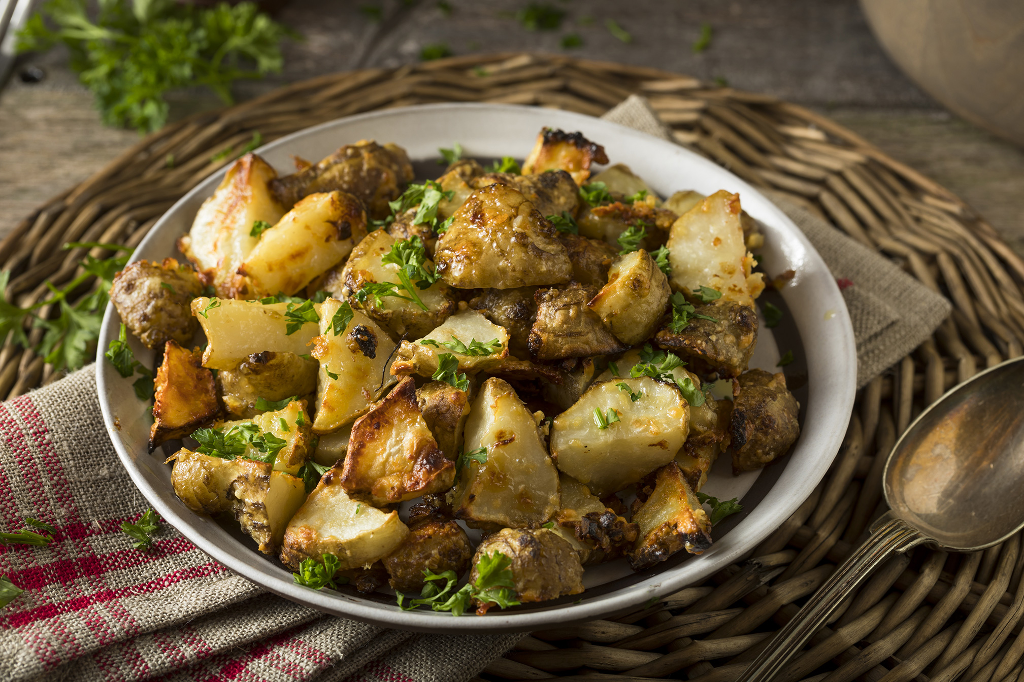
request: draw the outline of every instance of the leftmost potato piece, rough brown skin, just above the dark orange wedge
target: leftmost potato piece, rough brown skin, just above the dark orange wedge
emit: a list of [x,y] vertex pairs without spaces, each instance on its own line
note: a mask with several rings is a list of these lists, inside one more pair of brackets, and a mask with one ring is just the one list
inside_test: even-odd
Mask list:
[[191,343],[199,324],[189,304],[203,293],[196,271],[173,258],[139,260],[114,275],[111,302],[121,321],[150,349],[168,341]]

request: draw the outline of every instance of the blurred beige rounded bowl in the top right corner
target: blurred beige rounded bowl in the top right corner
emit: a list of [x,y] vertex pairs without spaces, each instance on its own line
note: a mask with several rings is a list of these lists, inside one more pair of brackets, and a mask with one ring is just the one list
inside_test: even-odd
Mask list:
[[876,38],[928,94],[1024,145],[1024,0],[861,0]]

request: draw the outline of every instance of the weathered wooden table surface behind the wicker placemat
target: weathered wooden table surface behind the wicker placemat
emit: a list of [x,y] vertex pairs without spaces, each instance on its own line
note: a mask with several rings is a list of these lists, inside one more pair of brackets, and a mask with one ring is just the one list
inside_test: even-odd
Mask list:
[[[304,40],[286,45],[282,74],[240,84],[237,98],[325,73],[415,62],[425,45],[439,43],[454,54],[541,50],[722,78],[827,114],[959,195],[1024,255],[1024,150],[950,115],[902,76],[856,0],[550,0],[541,4],[565,12],[561,28],[536,32],[515,18],[527,4],[293,0],[276,18]],[[367,6],[380,7],[382,20],[368,18]],[[611,35],[609,18],[632,42]],[[713,37],[697,53],[703,24]],[[583,46],[562,49],[567,34]],[[20,82],[30,63],[46,71],[43,82]],[[201,90],[169,98],[172,118],[219,105]],[[0,92],[0,237],[136,139],[99,122],[62,49],[20,57]]]

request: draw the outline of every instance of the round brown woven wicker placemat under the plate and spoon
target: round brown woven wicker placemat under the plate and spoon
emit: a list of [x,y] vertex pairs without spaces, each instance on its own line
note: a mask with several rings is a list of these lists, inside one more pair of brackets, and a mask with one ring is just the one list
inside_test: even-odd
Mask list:
[[[66,242],[138,244],[256,131],[268,142],[342,116],[435,101],[599,116],[634,92],[649,98],[677,141],[881,250],[954,306],[933,339],[860,392],[827,477],[753,558],[628,616],[534,633],[484,672],[512,680],[728,682],[884,509],[882,466],[910,420],[979,369],[1022,354],[1024,261],[963,201],[827,118],[678,74],[562,56],[471,55],[333,74],[167,126],[54,197],[0,243],[0,269],[12,272],[7,300],[32,303],[45,295],[46,280],[74,278],[84,252],[60,251]],[[226,148],[232,153],[216,156]],[[30,341],[42,332],[33,330]],[[31,349],[11,341],[0,349],[0,396],[59,376]],[[779,681],[1016,682],[1024,668],[1022,570],[1019,537],[972,555],[921,548],[897,556]]]

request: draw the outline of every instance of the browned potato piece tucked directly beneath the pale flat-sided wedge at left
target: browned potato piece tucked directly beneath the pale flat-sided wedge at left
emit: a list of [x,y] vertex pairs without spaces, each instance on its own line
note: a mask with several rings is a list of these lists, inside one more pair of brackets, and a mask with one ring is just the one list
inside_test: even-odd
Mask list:
[[291,352],[253,353],[233,370],[217,372],[217,388],[227,412],[243,419],[262,414],[256,399],[278,401],[316,392],[316,360]]

